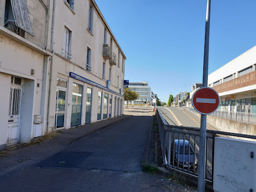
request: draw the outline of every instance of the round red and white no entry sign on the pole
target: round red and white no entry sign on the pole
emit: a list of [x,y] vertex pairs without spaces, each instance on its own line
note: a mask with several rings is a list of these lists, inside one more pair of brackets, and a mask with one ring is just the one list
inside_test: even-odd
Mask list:
[[198,113],[214,113],[220,104],[219,94],[212,88],[200,88],[192,96],[192,104]]

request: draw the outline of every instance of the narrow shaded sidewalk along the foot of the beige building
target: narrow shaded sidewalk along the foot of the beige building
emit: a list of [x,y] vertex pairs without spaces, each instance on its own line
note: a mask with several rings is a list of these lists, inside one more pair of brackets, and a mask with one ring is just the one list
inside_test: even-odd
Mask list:
[[46,159],[47,157],[63,150],[66,145],[97,133],[110,125],[114,125],[115,123],[130,117],[132,117],[132,115],[122,115],[68,130],[59,130],[59,134],[54,136],[52,139],[42,141],[38,144],[29,145],[24,148],[7,151],[5,156],[0,156],[0,177],[14,172],[19,168],[24,168],[39,162],[40,160]]

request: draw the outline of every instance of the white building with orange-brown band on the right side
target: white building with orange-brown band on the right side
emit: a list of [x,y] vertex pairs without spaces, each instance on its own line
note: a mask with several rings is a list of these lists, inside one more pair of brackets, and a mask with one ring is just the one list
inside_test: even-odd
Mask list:
[[220,95],[219,110],[256,113],[256,46],[208,75]]

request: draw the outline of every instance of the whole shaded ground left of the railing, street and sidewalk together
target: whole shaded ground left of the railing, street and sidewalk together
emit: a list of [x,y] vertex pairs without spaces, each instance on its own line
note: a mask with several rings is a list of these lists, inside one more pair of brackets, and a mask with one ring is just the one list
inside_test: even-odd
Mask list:
[[124,114],[7,153],[0,159],[1,191],[185,191],[139,167],[153,109],[124,107]]

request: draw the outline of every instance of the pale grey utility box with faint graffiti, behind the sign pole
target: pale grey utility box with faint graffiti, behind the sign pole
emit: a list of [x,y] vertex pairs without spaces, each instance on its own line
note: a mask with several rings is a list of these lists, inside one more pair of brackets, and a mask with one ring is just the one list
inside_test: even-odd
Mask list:
[[216,137],[214,191],[256,191],[256,142]]

